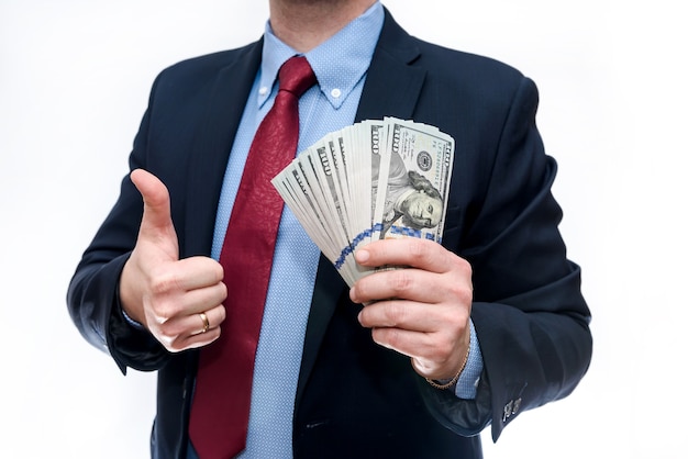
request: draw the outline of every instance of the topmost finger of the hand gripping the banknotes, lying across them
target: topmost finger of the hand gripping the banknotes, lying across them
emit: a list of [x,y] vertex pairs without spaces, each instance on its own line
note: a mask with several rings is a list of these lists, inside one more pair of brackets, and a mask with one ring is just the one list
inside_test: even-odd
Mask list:
[[450,254],[444,247],[415,237],[376,240],[356,250],[355,258],[367,267],[411,266],[433,272],[452,268]]

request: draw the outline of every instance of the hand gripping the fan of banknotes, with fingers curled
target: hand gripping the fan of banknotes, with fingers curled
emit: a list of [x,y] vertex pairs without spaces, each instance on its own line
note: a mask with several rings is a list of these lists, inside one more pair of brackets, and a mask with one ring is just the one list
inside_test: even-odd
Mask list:
[[366,267],[404,267],[379,270],[351,289],[352,301],[366,304],[358,321],[373,329],[373,339],[409,356],[424,378],[453,378],[470,343],[468,261],[418,238],[377,240],[355,257]]

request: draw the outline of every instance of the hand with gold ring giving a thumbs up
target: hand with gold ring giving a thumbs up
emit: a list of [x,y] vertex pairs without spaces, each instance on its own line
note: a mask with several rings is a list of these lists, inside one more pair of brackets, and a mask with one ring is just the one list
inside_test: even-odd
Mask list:
[[167,188],[143,169],[132,171],[131,180],[144,211],[120,279],[124,312],[171,352],[210,344],[225,318],[222,266],[209,257],[180,260]]

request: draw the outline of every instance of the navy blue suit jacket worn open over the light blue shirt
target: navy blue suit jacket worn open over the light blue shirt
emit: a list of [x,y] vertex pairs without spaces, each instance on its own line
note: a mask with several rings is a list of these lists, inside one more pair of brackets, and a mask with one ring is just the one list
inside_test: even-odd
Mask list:
[[[228,156],[260,64],[262,42],[164,70],[130,166],[169,189],[182,257],[209,255]],[[535,127],[537,91],[513,68],[409,36],[386,12],[357,120],[386,115],[456,141],[443,245],[474,270],[471,317],[485,371],[473,401],[431,388],[409,359],[356,321],[359,305],[321,257],[295,400],[297,458],[479,458],[521,412],[570,393],[591,356],[579,268],[567,260],[551,194],[555,161]],[[197,351],[171,355],[122,316],[118,281],[136,242],[142,200],[121,194],[69,287],[82,335],[122,371],[158,371],[152,455],[185,457]]]

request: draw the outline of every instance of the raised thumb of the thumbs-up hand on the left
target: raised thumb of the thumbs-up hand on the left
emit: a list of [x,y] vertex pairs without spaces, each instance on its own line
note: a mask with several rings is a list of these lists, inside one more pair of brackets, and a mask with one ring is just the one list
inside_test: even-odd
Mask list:
[[143,169],[133,170],[130,178],[143,198],[141,236],[162,238],[177,246],[177,233],[171,221],[167,187],[153,173]]

